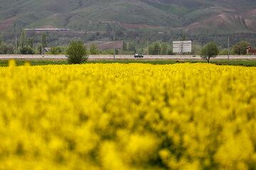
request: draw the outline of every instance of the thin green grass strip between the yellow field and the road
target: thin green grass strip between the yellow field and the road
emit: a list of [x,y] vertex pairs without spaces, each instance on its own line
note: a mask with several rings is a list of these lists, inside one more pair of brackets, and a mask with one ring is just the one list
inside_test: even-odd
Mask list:
[[[0,67],[8,66],[9,60],[0,60]],[[16,60],[18,66],[23,65],[25,62],[29,62],[32,66],[34,65],[48,65],[48,64],[68,64],[66,60]],[[206,62],[203,60],[116,60],[118,63],[146,63],[146,64],[176,64],[176,63],[196,63],[196,62]],[[87,63],[113,63],[110,60],[101,60],[101,61],[88,61]],[[211,60],[212,64],[219,65],[234,65],[234,66],[245,66],[245,67],[256,67],[256,60]]]

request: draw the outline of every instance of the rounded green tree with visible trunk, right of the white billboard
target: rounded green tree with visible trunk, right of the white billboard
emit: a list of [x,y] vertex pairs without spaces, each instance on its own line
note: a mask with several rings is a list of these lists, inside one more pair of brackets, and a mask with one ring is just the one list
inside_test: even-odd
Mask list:
[[203,46],[201,50],[201,57],[210,63],[210,58],[217,57],[219,52],[217,43],[209,42],[207,45]]

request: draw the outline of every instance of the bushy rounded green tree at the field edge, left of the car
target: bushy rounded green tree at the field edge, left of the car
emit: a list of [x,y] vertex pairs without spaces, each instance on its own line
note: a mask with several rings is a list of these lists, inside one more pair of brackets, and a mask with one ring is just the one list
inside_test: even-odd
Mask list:
[[69,64],[81,64],[88,60],[87,47],[81,40],[72,40],[66,50]]

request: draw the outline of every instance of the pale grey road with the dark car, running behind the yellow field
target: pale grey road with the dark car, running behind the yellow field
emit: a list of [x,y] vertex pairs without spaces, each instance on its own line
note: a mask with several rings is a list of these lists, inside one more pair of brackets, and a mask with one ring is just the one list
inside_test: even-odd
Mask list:
[[[27,59],[27,60],[66,60],[65,55],[0,55],[0,60]],[[145,55],[135,59],[133,55],[116,55],[116,60],[201,60],[200,56],[192,55]],[[228,56],[218,56],[218,59],[228,59]],[[113,55],[90,55],[89,60],[113,60]],[[230,60],[256,60],[256,55],[231,55]]]

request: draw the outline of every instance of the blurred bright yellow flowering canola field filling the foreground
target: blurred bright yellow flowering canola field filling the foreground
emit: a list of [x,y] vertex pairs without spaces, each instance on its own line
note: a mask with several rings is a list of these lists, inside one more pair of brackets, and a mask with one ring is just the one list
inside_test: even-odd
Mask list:
[[11,63],[0,169],[256,169],[255,114],[255,67]]

